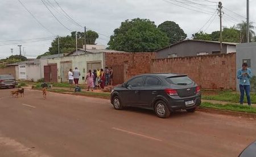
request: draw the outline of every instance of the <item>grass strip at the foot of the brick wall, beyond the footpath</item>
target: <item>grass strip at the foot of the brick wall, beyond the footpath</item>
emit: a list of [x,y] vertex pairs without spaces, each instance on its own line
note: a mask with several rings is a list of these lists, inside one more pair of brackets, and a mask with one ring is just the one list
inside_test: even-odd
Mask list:
[[[250,94],[251,96],[251,103],[256,104],[256,94]],[[240,93],[232,92],[232,91],[219,91],[213,95],[202,94],[203,100],[217,100],[217,101],[228,101],[228,102],[240,102]],[[245,96],[245,103],[247,102]]]

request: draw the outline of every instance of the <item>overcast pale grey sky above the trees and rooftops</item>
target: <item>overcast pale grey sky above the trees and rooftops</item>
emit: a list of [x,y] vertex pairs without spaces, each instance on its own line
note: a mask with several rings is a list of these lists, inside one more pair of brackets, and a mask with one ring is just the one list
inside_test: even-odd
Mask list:
[[[62,26],[53,15],[64,25]],[[22,5],[21,3],[24,5]],[[52,36],[66,36],[81,26],[100,33],[98,44],[107,45],[113,30],[126,19],[147,18],[156,25],[172,20],[191,38],[197,31],[219,30],[215,0],[1,0],[0,58],[19,54],[18,44],[27,57],[48,51]],[[60,9],[60,7],[77,24]],[[246,20],[246,0],[222,0],[223,26],[230,27]],[[28,13],[24,8],[33,16]],[[256,22],[256,2],[250,1],[250,20]],[[80,25],[80,26],[79,26]],[[66,28],[65,28],[66,27]],[[28,40],[31,39],[31,40]],[[21,41],[17,41],[21,40]],[[23,54],[23,55],[25,55]]]

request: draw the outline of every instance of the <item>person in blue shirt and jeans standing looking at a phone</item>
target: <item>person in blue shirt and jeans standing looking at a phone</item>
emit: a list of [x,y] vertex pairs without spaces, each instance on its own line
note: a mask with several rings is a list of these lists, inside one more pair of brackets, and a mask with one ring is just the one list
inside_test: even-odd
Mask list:
[[247,63],[242,64],[242,69],[237,71],[237,79],[239,79],[239,87],[240,87],[240,104],[243,104],[243,97],[246,93],[248,105],[251,106],[251,98],[250,98],[250,79],[251,79],[251,69],[247,68]]

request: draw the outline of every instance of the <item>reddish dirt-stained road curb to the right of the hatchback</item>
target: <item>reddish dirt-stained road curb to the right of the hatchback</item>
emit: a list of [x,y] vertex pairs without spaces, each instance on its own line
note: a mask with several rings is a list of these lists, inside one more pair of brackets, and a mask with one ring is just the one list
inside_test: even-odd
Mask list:
[[203,111],[207,113],[216,113],[216,114],[224,114],[224,115],[233,115],[236,117],[246,117],[246,118],[254,118],[256,119],[256,114],[254,113],[244,113],[240,111],[229,111],[229,110],[219,110],[219,109],[209,109],[209,108],[199,108],[198,111]]

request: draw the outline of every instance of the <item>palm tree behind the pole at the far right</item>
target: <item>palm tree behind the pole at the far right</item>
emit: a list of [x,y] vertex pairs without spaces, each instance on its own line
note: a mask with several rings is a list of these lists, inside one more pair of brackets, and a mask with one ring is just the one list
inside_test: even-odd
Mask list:
[[[251,40],[254,38],[255,36],[255,32],[254,30],[254,26],[253,26],[253,22],[249,23],[249,34],[250,34],[250,42]],[[247,42],[247,23],[245,21],[243,21],[242,23],[238,23],[237,24],[237,29],[239,31],[241,31],[241,43],[246,43]]]

